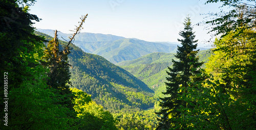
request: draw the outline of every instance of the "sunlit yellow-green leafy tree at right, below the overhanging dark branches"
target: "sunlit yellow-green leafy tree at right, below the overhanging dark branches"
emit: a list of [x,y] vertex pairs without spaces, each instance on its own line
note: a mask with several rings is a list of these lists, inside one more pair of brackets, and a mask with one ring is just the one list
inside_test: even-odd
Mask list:
[[216,39],[206,72],[201,70],[202,73],[195,75],[196,80],[189,82],[187,94],[178,97],[193,106],[181,108],[178,119],[188,124],[188,129],[255,127],[255,84],[251,84],[255,81],[251,71],[255,39],[250,37],[254,31],[246,32],[236,38],[233,36],[239,32],[230,32]]

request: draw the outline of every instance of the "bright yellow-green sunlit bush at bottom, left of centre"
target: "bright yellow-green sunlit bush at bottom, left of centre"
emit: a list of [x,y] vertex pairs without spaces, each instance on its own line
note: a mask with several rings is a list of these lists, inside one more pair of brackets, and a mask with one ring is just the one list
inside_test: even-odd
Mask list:
[[117,129],[113,115],[92,101],[90,95],[76,88],[72,92],[76,96],[73,102],[80,129]]

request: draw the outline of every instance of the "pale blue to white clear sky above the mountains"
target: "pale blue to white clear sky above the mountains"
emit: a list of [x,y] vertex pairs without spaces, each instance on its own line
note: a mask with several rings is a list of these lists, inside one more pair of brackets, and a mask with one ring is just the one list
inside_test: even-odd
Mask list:
[[[204,4],[206,0],[38,0],[30,13],[42,20],[39,29],[72,33],[80,17],[88,14],[81,32],[112,34],[145,41],[178,42],[187,15],[194,25],[199,46],[209,47],[203,23],[209,12],[219,12],[220,4]],[[202,15],[205,14],[205,15]],[[200,23],[199,25],[196,25]],[[209,29],[209,28],[208,28]]]

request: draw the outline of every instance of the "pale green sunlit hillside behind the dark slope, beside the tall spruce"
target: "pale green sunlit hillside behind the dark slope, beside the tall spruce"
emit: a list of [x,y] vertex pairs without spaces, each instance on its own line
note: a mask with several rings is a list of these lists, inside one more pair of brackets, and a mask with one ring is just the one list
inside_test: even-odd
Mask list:
[[[165,91],[166,70],[172,67],[172,59],[176,60],[174,53],[152,53],[132,61],[117,63],[120,67],[131,72],[148,87],[155,91],[155,97],[163,97]],[[207,62],[211,55],[210,50],[201,50],[198,53],[199,61]],[[203,65],[202,67],[204,67]]]

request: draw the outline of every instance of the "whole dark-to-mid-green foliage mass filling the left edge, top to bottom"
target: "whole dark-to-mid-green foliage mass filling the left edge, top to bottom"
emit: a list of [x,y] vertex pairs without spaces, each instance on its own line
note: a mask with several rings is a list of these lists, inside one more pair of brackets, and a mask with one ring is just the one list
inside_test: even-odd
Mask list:
[[39,18],[28,13],[28,6],[19,7],[27,2],[34,1],[0,2],[1,77],[6,73],[8,83],[7,96],[1,93],[8,98],[8,107],[1,103],[1,108],[8,109],[0,112],[3,117],[8,115],[8,123],[2,123],[1,129],[76,129],[74,118],[67,114],[69,109],[56,103],[60,95],[43,80],[47,70],[39,61],[44,55],[44,38],[34,35],[31,27],[32,20]]

